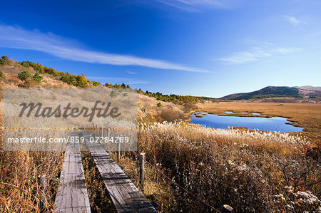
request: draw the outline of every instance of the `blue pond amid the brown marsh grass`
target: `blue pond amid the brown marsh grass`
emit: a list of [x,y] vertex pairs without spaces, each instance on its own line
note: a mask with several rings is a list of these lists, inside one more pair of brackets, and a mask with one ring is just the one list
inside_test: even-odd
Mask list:
[[190,117],[190,123],[203,125],[207,128],[228,129],[228,127],[245,127],[251,130],[258,129],[280,133],[295,133],[302,132],[303,130],[303,128],[286,124],[289,123],[289,121],[287,121],[286,118],[280,117],[258,118],[208,114],[203,116],[203,118],[197,118],[193,115]]

